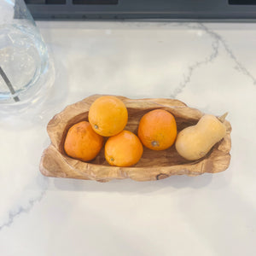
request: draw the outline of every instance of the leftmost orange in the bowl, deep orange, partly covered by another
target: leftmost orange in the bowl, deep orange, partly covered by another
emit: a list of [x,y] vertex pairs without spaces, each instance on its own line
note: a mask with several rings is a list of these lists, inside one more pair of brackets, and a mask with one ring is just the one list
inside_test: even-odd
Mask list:
[[83,121],[73,125],[67,131],[64,149],[67,155],[83,161],[93,160],[103,146],[103,137]]

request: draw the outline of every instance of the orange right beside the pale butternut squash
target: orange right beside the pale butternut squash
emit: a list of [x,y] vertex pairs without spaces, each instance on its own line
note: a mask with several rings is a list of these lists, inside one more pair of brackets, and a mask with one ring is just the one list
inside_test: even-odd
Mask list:
[[154,109],[143,115],[137,135],[145,147],[164,150],[175,142],[177,137],[176,120],[172,113],[163,109]]

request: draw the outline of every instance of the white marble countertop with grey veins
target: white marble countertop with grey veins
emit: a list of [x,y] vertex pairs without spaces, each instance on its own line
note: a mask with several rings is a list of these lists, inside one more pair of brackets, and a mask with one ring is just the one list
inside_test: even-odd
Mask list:
[[[0,119],[0,255],[255,255],[256,24],[38,22],[55,84]],[[227,171],[157,182],[43,177],[46,125],[96,93],[229,112]]]

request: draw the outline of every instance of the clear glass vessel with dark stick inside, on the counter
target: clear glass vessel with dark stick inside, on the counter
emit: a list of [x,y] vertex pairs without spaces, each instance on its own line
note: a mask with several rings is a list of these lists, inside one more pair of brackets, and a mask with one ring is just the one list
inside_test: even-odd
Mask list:
[[23,0],[0,1],[0,113],[39,101],[53,83],[54,69]]

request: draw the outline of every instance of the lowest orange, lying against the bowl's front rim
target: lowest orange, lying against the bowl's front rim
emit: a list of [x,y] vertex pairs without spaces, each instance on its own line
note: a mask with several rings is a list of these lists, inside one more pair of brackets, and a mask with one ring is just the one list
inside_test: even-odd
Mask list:
[[143,144],[131,131],[121,131],[105,144],[105,158],[111,166],[133,166],[142,155]]

